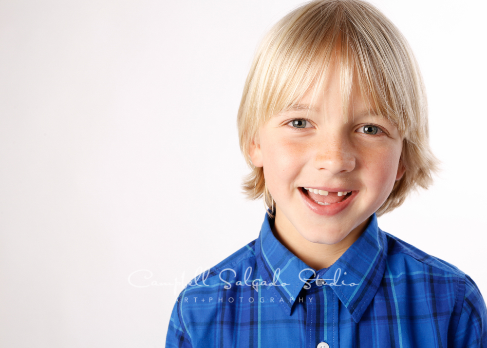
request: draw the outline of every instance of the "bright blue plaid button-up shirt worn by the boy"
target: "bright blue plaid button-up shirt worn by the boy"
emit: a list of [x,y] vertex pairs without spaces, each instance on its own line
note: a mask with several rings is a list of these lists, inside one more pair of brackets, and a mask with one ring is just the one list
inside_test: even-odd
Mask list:
[[319,271],[270,223],[266,214],[259,238],[181,292],[167,348],[487,347],[486,305],[472,279],[381,231],[375,214]]

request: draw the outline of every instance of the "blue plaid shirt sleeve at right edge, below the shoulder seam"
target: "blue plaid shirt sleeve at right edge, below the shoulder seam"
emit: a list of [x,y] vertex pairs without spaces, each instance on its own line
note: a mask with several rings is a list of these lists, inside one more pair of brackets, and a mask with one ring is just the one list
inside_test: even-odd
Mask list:
[[[455,348],[487,348],[487,309],[480,290],[468,276],[464,278],[463,296],[457,312],[458,325],[451,347]],[[450,341],[451,342],[451,341]],[[450,347],[450,344],[449,344]]]

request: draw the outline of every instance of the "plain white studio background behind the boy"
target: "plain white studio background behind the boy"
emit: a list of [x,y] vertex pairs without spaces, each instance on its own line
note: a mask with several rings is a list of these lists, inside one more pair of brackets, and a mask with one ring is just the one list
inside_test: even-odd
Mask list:
[[[258,236],[236,113],[299,1],[0,1],[0,346],[164,347],[184,283]],[[485,2],[375,1],[443,171],[379,226],[487,295]],[[129,284],[135,273],[134,285]],[[150,279],[143,275],[152,272]]]

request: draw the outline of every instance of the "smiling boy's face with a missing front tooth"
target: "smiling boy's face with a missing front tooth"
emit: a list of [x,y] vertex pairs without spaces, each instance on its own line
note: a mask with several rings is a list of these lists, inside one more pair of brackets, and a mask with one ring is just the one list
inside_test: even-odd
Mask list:
[[[299,108],[272,116],[250,149],[276,201],[276,228],[323,244],[361,232],[404,173],[398,130],[373,108],[369,115],[357,92],[345,123],[339,76],[329,71],[314,105],[305,95]],[[350,193],[340,195],[344,191]]]

